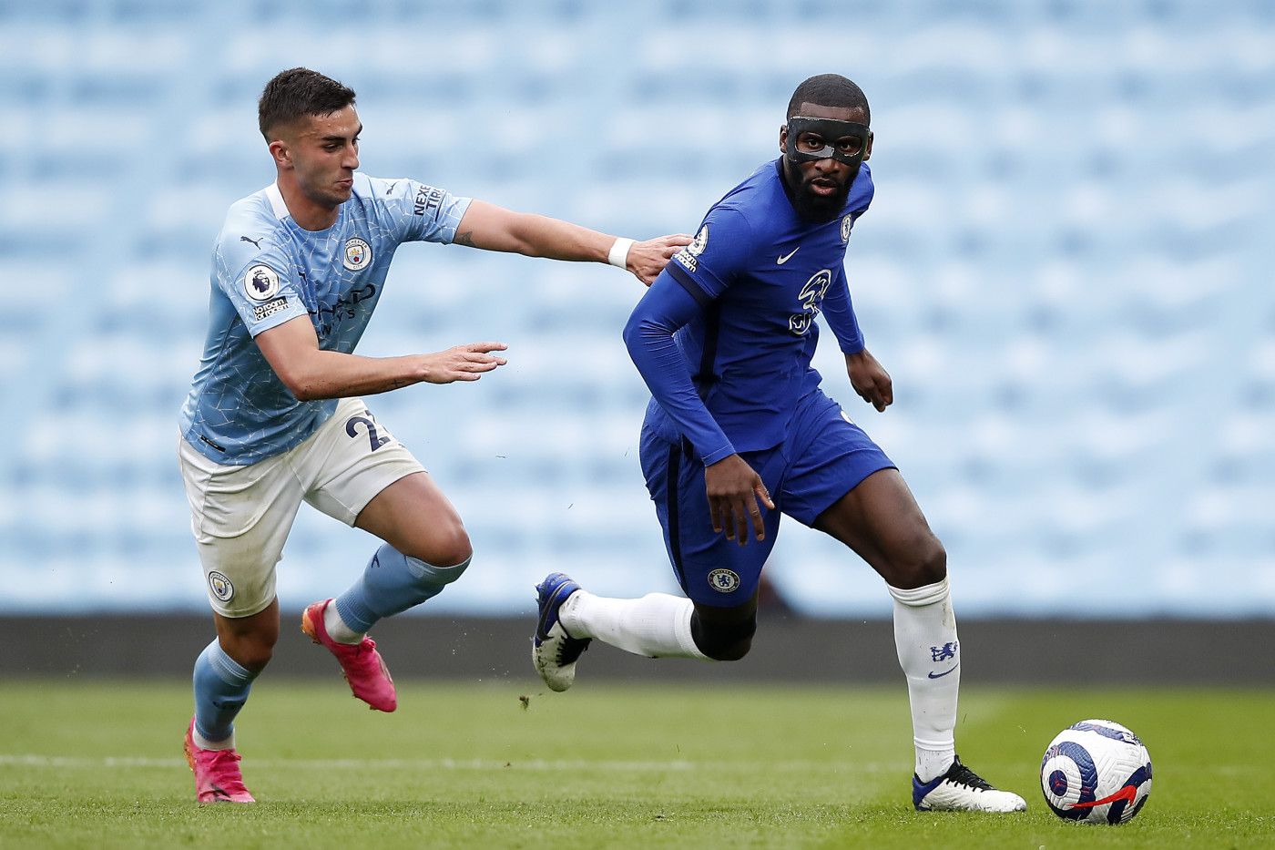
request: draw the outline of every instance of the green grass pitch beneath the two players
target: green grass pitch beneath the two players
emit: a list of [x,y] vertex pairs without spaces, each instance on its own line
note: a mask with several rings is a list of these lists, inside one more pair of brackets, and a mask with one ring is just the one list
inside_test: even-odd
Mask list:
[[[185,682],[0,683],[0,847],[1275,847],[1275,690],[961,694],[963,758],[1019,816],[912,810],[898,688],[264,676],[240,717],[256,805],[199,805]],[[1049,813],[1049,739],[1133,729],[1155,767],[1121,827]]]

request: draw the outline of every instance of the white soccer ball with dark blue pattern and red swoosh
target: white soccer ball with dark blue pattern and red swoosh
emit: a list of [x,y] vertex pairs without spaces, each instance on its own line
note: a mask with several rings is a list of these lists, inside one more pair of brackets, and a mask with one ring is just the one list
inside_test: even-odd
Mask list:
[[1119,724],[1082,720],[1058,733],[1040,761],[1053,813],[1081,823],[1125,823],[1151,793],[1151,757]]

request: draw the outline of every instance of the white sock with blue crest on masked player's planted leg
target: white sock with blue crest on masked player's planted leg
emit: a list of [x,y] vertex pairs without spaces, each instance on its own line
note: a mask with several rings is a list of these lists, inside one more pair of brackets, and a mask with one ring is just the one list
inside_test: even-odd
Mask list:
[[947,579],[915,590],[890,587],[894,597],[894,645],[908,676],[917,777],[922,782],[947,772],[956,756],[956,697],[960,690],[960,643]]

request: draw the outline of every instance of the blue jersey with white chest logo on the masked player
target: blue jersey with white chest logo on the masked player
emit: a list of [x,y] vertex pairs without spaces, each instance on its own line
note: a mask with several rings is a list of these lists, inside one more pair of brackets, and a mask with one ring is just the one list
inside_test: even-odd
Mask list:
[[821,310],[841,351],[863,348],[845,280],[845,248],[854,221],[872,200],[871,171],[861,166],[839,216],[812,223],[789,202],[780,166],[779,160],[761,166],[714,204],[695,241],[663,272],[703,308],[674,341],[720,431],[713,422],[673,421],[658,403],[660,378],[644,374],[657,396],[648,426],[669,440],[724,434],[729,445],[694,445],[706,463],[732,449],[760,451],[783,442],[797,402],[820,382],[811,357]]

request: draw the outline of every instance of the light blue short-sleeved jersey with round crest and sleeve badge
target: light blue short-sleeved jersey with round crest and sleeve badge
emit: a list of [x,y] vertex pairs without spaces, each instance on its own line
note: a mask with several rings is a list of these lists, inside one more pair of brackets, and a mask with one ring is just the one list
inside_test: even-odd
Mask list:
[[186,440],[217,463],[247,466],[310,436],[337,399],[297,401],[252,337],[309,315],[319,347],[352,352],[398,246],[451,242],[469,200],[356,174],[328,230],[298,226],[275,184],[231,205],[213,249],[208,339],[181,408]]

